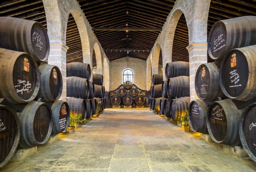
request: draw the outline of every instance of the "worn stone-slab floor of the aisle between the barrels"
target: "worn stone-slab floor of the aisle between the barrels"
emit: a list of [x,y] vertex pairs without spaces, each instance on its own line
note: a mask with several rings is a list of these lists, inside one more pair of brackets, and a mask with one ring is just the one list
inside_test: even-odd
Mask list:
[[[154,114],[148,108],[106,109],[75,134],[41,146],[3,172],[254,172],[256,163],[225,154],[198,133]],[[0,170],[1,171],[1,170]]]

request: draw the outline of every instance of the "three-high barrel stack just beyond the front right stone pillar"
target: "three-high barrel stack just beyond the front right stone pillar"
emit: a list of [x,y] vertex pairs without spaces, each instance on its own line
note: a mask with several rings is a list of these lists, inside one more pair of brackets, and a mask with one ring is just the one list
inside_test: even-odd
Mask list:
[[179,120],[180,116],[185,115],[190,102],[189,63],[182,61],[167,63],[165,76],[160,109],[164,116]]

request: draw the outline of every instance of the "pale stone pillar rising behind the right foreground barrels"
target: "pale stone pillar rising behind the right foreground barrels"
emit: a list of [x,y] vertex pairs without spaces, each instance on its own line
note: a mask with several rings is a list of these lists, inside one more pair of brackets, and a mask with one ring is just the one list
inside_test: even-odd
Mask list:
[[198,100],[195,90],[195,76],[200,64],[207,63],[207,43],[192,43],[188,47],[189,53],[189,78],[190,78],[190,102]]

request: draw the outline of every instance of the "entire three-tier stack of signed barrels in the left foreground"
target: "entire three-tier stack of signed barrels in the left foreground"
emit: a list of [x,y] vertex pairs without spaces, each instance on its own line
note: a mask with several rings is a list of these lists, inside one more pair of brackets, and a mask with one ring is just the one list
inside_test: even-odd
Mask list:
[[[51,134],[66,131],[68,104],[57,66],[40,64],[50,50],[42,24],[0,18],[0,167],[16,148],[44,144]],[[38,67],[39,65],[39,67]]]

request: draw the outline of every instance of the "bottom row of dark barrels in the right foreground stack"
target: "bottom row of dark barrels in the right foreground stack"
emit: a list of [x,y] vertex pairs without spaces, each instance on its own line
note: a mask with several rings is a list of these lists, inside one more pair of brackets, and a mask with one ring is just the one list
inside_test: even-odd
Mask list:
[[242,146],[256,161],[256,103],[255,100],[240,101],[225,99],[210,102],[194,100],[189,106],[189,121],[192,130],[210,134],[222,144]]

